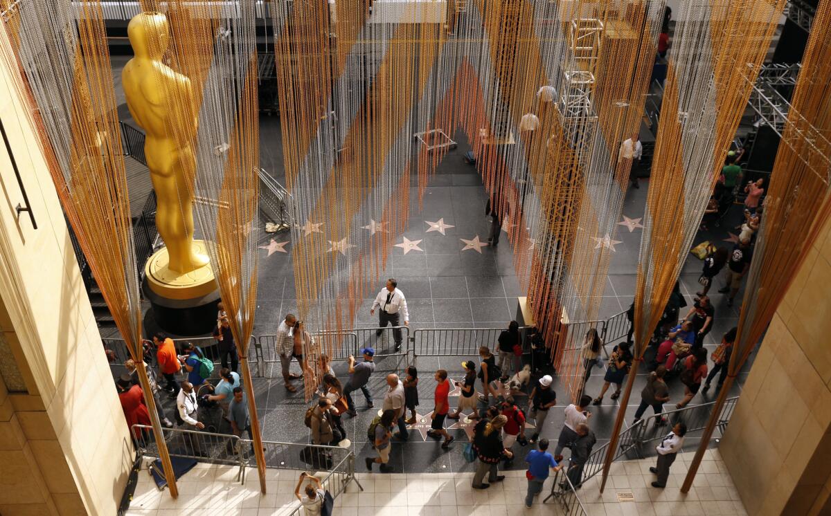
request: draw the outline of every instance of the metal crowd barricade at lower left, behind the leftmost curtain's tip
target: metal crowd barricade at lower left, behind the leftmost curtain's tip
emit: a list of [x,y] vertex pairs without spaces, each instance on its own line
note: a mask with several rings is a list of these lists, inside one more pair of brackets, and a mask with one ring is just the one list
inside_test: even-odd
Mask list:
[[[140,455],[159,456],[159,448],[153,436],[153,427],[133,425],[132,436]],[[237,480],[243,482],[245,477],[245,460],[243,459],[243,440],[230,434],[214,434],[205,431],[183,430],[181,428],[162,428],[167,448],[171,457],[184,457],[210,462],[238,466]],[[250,441],[248,441],[250,443]]]

